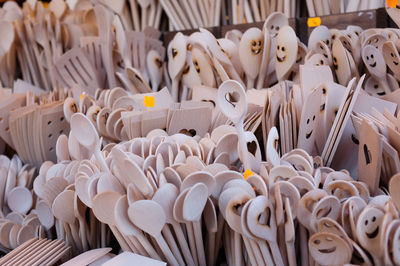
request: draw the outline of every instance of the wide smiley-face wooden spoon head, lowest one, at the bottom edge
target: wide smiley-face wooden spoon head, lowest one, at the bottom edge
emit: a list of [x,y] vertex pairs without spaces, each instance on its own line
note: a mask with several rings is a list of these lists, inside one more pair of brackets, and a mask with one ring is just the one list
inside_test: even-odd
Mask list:
[[312,235],[308,247],[311,256],[320,265],[344,265],[351,260],[352,250],[347,242],[332,233]]

